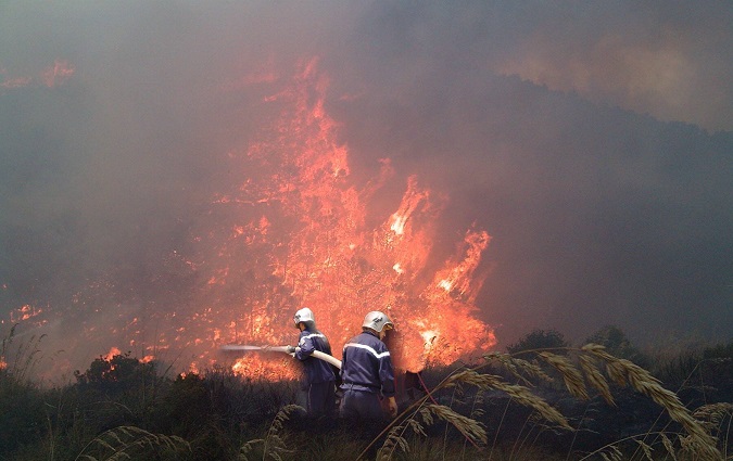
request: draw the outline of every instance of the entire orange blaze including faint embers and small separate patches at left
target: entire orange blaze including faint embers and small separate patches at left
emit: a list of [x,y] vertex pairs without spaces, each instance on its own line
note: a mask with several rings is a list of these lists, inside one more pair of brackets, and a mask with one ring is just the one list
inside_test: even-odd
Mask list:
[[[71,72],[58,64],[49,79]],[[316,60],[287,81],[241,81],[222,91],[271,89],[263,113],[279,112],[263,116],[266,129],[255,141],[223,155],[227,177],[206,202],[205,219],[190,228],[188,247],[163,261],[157,292],[143,297],[100,280],[74,296],[67,312],[78,312],[81,332],[69,335],[68,348],[88,347],[93,338],[105,350],[134,348],[146,361],[182,350],[184,371],[219,362],[252,379],[290,379],[299,369],[282,354],[235,361],[216,351],[232,343],[294,344],[292,316],[302,306],[314,310],[337,358],[370,310],[395,323],[388,343],[402,370],[448,364],[493,346],[493,331],[475,305],[489,234],[468,230],[455,254],[435,262],[443,259],[433,243],[444,197],[417,176],[396,179],[387,155],[375,178],[359,185],[349,149],[338,141],[339,124],[326,110],[329,81]],[[404,181],[404,194],[378,216],[371,205],[388,181]],[[379,200],[381,207],[386,199]],[[45,313],[23,306],[15,315],[40,325]]]

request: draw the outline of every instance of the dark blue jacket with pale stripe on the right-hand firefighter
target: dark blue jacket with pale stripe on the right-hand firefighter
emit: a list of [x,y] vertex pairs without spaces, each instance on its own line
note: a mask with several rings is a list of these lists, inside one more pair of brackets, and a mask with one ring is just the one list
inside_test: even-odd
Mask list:
[[343,346],[341,364],[343,388],[394,395],[392,358],[384,343],[374,333],[365,331]]

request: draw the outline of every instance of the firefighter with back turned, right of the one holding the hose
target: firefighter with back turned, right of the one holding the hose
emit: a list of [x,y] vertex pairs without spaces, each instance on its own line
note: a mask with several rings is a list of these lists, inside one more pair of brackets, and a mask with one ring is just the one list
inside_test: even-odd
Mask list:
[[394,324],[380,311],[364,318],[362,334],[343,346],[341,360],[341,406],[339,413],[350,420],[383,420],[397,415],[394,399],[394,370],[390,351],[382,342]]

